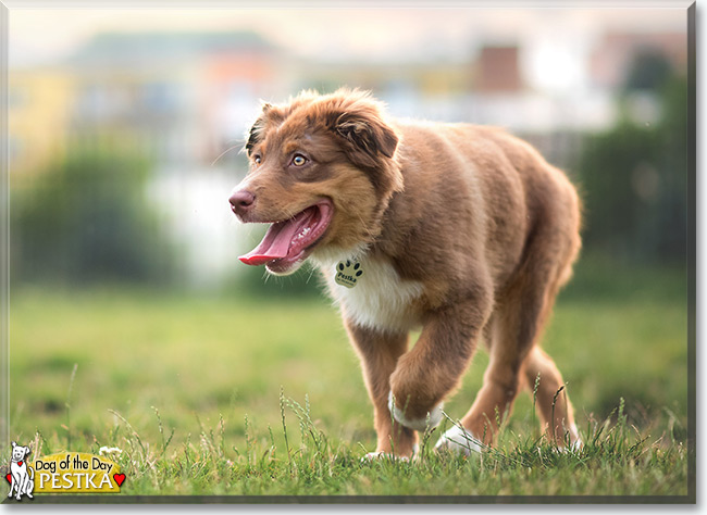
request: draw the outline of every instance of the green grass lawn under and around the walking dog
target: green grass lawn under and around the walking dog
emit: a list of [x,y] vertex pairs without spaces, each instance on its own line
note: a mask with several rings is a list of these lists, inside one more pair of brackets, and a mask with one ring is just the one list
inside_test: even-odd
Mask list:
[[[45,455],[122,449],[123,494],[686,495],[686,306],[680,288],[650,291],[558,303],[544,348],[581,451],[541,439],[521,395],[481,455],[437,455],[435,432],[418,461],[361,463],[372,407],[324,299],[13,290],[10,436]],[[486,363],[480,351],[450,417]]]

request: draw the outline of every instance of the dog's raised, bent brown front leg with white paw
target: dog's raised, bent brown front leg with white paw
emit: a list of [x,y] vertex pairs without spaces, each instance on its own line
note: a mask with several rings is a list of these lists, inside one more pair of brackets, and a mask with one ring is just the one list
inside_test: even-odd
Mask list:
[[491,302],[456,303],[427,316],[415,346],[390,376],[395,419],[415,430],[442,420],[442,401],[457,387],[491,313]]

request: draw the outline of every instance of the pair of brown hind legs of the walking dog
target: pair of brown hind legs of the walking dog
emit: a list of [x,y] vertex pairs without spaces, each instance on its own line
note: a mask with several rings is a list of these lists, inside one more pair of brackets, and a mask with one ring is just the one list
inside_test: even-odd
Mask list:
[[[491,361],[484,384],[461,419],[464,429],[485,444],[493,443],[498,426],[510,413],[520,388],[529,382],[532,388],[538,372],[546,376],[544,382],[541,379],[537,404],[543,419],[550,423],[554,410],[551,425],[555,432],[549,435],[558,441],[563,438],[563,427],[574,427],[566,392],[554,399],[562,384],[561,377],[553,362],[536,348],[559,286],[568,277],[569,263],[576,254],[576,248],[568,244],[571,241],[559,241],[551,235],[551,230],[535,235],[526,249],[523,265],[497,299],[489,328]],[[459,437],[459,428],[450,431],[447,437]],[[574,443],[576,434],[571,434],[570,438]],[[439,444],[455,448],[454,443],[445,441],[445,437]]]

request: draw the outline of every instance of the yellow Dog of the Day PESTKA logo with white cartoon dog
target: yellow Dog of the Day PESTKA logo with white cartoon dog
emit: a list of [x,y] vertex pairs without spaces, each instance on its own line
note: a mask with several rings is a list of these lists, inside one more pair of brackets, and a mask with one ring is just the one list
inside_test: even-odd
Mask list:
[[[101,448],[101,453],[104,448]],[[111,449],[111,451],[119,451]],[[12,442],[10,494],[33,499],[33,493],[120,493],[125,482],[117,464],[85,452],[62,452],[26,463],[28,447]]]

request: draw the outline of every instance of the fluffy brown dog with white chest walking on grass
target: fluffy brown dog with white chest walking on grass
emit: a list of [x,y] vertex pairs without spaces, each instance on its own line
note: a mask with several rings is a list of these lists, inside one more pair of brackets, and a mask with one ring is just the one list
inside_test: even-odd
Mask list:
[[361,357],[372,454],[414,452],[415,431],[441,422],[482,340],[483,388],[464,429],[437,445],[491,444],[538,374],[548,438],[579,444],[572,406],[556,395],[560,373],[538,346],[581,246],[580,203],[562,172],[500,129],[389,120],[358,90],[265,103],[246,151],[250,172],[232,209],[272,225],[240,260],[276,275],[306,260],[322,271]]

